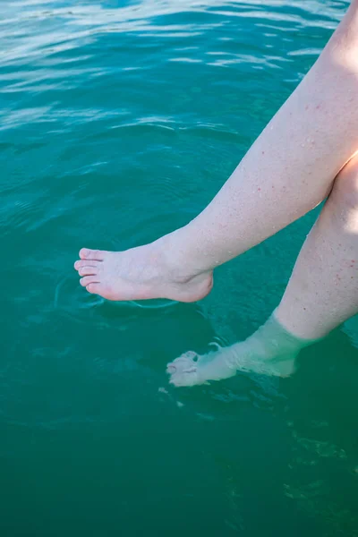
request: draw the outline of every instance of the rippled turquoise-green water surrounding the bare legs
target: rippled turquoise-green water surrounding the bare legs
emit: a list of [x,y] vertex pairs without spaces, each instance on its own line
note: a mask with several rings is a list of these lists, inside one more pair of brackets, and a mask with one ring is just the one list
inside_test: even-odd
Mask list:
[[175,389],[166,362],[248,336],[311,214],[201,303],[86,294],[81,246],[181,226],[324,46],[338,0],[0,3],[4,537],[358,535],[358,323],[293,379]]

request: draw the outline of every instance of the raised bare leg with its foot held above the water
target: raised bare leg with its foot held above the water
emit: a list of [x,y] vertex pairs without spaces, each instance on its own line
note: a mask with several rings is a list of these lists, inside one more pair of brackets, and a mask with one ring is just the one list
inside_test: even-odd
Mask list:
[[358,0],[319,60],[209,206],[188,226],[124,252],[83,249],[81,285],[110,300],[209,293],[212,270],[328,195],[358,147]]

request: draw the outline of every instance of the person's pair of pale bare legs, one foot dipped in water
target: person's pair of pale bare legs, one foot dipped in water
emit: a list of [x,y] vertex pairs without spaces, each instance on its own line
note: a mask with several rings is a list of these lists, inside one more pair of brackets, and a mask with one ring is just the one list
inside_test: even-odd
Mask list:
[[[211,290],[214,268],[328,197],[274,322],[241,344],[199,359],[185,354],[168,366],[175,386],[223,379],[240,369],[289,374],[303,345],[324,337],[358,311],[357,148],[354,0],[316,64],[209,206],[187,226],[154,243],[118,252],[82,249],[75,263],[81,286],[115,301],[200,300]],[[279,367],[271,366],[274,354],[285,353],[289,360],[284,367],[284,358],[279,358]]]

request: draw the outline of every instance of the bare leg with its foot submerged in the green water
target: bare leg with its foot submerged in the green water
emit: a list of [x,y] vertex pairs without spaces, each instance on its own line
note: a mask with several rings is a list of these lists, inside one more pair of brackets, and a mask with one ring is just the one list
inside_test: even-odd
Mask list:
[[303,244],[277,310],[255,334],[216,353],[183,354],[168,365],[175,386],[226,379],[236,371],[287,375],[305,345],[358,312],[358,157],[337,176]]

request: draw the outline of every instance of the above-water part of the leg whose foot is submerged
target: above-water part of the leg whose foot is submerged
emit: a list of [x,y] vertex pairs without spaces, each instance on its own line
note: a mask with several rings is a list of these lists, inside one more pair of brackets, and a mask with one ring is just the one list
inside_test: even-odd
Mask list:
[[[340,172],[303,244],[277,320],[299,337],[323,337],[358,312],[358,156]],[[336,285],[332,282],[336,280]],[[318,294],[314,294],[318,291]]]

